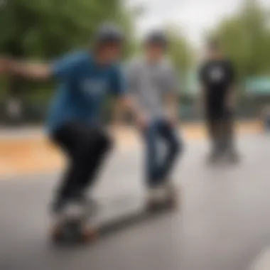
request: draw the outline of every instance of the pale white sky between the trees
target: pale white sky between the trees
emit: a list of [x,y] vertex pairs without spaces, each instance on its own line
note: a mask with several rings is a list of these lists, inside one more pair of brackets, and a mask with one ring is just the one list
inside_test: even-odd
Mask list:
[[[243,0],[126,0],[129,6],[143,5],[143,16],[136,21],[136,33],[172,24],[185,33],[191,42],[200,45],[207,29],[239,9]],[[260,0],[270,8],[270,0]]]

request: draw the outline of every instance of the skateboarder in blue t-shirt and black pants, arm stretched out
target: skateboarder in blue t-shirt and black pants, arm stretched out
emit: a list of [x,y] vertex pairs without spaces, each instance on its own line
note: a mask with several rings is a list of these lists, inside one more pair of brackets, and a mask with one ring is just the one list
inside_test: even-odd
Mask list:
[[53,200],[53,213],[85,199],[86,188],[112,146],[100,117],[107,95],[119,97],[121,105],[128,103],[117,65],[123,41],[119,28],[106,24],[97,31],[92,52],[70,53],[48,65],[0,60],[2,72],[33,80],[54,77],[59,82],[47,127],[50,139],[68,156],[68,167]]

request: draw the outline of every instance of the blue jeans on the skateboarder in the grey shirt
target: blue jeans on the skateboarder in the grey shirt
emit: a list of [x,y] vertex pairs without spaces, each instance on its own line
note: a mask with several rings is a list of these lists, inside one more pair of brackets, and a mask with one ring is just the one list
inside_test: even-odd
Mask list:
[[[162,184],[171,173],[173,164],[180,151],[182,142],[178,132],[165,119],[151,121],[144,131],[146,142],[146,178],[150,187]],[[164,142],[166,153],[161,155],[160,142]]]

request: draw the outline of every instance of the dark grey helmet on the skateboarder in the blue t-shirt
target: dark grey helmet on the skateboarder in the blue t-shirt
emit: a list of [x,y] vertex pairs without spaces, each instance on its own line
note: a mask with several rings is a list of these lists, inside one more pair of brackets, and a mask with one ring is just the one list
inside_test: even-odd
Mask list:
[[123,43],[124,33],[113,23],[104,23],[97,29],[95,43],[103,45],[106,43]]

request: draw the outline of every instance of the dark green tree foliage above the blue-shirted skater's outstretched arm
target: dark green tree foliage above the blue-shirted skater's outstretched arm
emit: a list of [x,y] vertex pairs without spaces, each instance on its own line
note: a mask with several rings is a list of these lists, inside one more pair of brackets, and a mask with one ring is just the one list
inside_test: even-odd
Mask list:
[[51,58],[89,43],[104,21],[131,32],[131,16],[121,0],[6,0],[0,14],[0,50],[23,58]]

